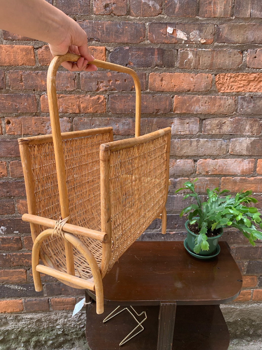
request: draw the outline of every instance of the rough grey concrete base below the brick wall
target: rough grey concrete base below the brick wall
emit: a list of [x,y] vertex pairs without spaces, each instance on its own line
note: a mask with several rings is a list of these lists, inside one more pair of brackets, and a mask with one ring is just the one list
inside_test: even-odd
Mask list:
[[[229,350],[262,350],[262,303],[225,304],[221,310],[230,330]],[[72,311],[2,314],[0,350],[87,350],[85,323],[84,309],[74,317]]]

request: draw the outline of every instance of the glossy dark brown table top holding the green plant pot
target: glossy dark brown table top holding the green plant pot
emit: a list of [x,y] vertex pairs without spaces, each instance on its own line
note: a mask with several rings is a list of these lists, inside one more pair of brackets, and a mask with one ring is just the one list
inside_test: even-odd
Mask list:
[[217,257],[199,260],[181,241],[136,241],[104,277],[104,302],[194,305],[232,301],[242,287],[242,275],[227,243],[219,245]]

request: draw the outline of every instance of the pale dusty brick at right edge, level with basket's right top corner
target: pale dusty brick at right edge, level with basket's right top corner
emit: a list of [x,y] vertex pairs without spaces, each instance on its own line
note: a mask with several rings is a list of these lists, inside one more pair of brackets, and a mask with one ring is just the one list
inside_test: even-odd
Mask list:
[[257,118],[210,118],[203,121],[203,134],[260,135],[261,120]]

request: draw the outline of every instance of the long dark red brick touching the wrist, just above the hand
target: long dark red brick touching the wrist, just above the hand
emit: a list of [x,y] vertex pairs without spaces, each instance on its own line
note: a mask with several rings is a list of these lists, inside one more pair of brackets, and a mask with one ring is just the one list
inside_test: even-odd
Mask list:
[[103,43],[140,43],[145,38],[145,25],[134,22],[79,21],[88,40]]

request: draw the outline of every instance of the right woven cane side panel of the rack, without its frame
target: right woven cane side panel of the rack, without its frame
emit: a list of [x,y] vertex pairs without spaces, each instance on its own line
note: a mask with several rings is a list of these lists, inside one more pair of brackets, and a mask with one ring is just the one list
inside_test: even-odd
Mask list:
[[142,145],[111,151],[110,268],[165,205],[167,139],[168,135],[163,135]]

